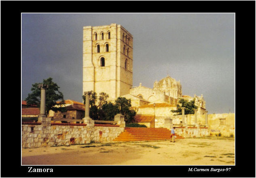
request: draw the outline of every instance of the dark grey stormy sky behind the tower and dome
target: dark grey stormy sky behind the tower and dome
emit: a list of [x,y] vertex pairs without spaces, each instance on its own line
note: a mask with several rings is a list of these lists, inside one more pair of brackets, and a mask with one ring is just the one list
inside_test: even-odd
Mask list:
[[83,26],[120,24],[133,35],[133,86],[169,74],[182,94],[203,94],[212,113],[235,112],[234,13],[22,14],[22,100],[53,78],[82,102]]

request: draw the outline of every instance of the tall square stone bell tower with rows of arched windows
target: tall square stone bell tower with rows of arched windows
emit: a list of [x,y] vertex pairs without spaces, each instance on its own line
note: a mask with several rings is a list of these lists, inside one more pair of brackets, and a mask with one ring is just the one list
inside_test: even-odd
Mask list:
[[105,92],[110,100],[133,84],[133,36],[115,23],[83,27],[83,93]]

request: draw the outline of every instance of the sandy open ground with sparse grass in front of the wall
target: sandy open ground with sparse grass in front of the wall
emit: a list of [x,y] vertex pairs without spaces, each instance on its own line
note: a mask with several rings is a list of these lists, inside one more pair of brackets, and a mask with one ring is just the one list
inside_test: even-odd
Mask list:
[[235,140],[212,137],[22,149],[22,165],[235,165]]

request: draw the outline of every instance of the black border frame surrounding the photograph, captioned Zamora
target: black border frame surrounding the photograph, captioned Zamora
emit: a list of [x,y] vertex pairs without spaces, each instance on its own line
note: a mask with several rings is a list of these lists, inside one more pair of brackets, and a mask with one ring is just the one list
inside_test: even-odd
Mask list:
[[[94,3],[102,8],[89,8]],[[28,173],[29,166],[20,166],[21,67],[14,65],[21,59],[23,12],[234,12],[236,166],[33,166],[54,172]],[[255,1],[1,1],[1,58],[1,177],[255,177]],[[229,167],[230,172],[188,172]]]

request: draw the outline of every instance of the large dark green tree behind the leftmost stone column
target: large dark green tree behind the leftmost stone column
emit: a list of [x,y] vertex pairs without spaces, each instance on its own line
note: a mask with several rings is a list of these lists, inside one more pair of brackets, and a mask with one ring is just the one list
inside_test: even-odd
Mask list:
[[[38,87],[40,83],[32,84],[31,91],[32,93],[28,94],[28,97],[25,101],[28,105],[36,105],[40,107],[41,100],[41,88]],[[66,108],[64,107],[55,107],[61,106],[65,104],[63,94],[59,91],[59,86],[53,82],[53,79],[50,77],[48,79],[44,79],[42,82],[43,85],[48,85],[48,88],[45,89],[45,110],[46,114],[49,114],[49,110],[53,110],[54,112],[60,111],[65,112]],[[57,103],[57,101],[59,101]]]

